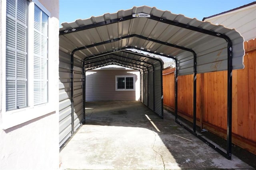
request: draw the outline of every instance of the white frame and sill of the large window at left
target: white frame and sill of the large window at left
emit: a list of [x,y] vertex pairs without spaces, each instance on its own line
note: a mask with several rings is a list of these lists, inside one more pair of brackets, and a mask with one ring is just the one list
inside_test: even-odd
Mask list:
[[[2,56],[6,56],[6,1],[2,0]],[[56,108],[54,106],[54,97],[51,97],[51,91],[49,89],[50,81],[49,72],[49,51],[50,51],[50,12],[38,1],[38,0],[28,0],[28,36],[27,36],[27,72],[28,72],[28,106],[21,109],[14,109],[6,111],[6,57],[2,57],[2,129],[8,129],[16,125],[20,125],[32,119],[36,119],[43,115],[54,113]],[[40,105],[34,105],[34,7],[38,6],[48,16],[48,45],[47,45],[47,81],[48,81],[48,100],[47,103]]]

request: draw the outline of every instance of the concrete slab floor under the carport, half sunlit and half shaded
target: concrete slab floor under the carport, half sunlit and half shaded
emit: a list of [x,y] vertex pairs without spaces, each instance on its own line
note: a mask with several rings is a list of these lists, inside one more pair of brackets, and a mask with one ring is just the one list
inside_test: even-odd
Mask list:
[[86,125],[61,150],[61,169],[254,169],[227,160],[164,111],[138,101],[86,102]]

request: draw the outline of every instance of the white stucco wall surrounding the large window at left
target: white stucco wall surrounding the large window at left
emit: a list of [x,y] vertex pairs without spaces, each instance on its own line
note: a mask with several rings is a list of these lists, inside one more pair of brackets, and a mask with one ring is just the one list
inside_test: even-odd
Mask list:
[[[50,12],[49,18],[49,93],[51,93],[51,113],[17,124],[3,130],[6,123],[2,110],[5,99],[2,92],[2,78],[5,63],[3,51],[5,50],[5,36],[2,35],[5,28],[4,12],[6,0],[0,0],[0,169],[1,170],[54,170],[59,167],[58,147],[58,32],[59,32],[59,1],[39,0]],[[28,111],[30,112],[30,111]],[[30,113],[28,113],[30,114]],[[24,117],[26,113],[24,114]],[[25,119],[24,119],[25,120]],[[17,120],[13,119],[15,123]]]

